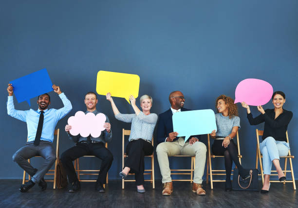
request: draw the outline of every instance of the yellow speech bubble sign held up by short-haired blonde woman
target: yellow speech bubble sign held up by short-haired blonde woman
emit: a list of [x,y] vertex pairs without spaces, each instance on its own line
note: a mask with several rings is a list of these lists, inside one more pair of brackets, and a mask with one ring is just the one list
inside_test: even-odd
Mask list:
[[130,103],[130,95],[139,96],[140,77],[136,74],[125,74],[111,71],[98,71],[96,92],[106,95],[111,92],[113,97],[125,98]]

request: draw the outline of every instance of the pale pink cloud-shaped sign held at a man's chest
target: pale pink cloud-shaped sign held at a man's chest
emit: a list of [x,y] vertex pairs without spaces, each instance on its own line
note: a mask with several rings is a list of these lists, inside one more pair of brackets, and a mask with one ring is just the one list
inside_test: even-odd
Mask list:
[[80,134],[82,137],[88,137],[90,134],[92,137],[99,137],[101,131],[105,130],[103,127],[106,121],[106,116],[103,113],[99,113],[96,116],[93,113],[85,113],[83,111],[77,111],[75,116],[71,116],[68,119],[68,124],[72,126],[69,131],[72,135],[76,136]]

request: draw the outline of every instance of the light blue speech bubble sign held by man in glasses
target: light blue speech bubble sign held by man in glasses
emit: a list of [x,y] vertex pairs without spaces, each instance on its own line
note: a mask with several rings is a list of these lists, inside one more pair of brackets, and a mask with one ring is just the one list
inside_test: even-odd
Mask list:
[[172,118],[174,132],[178,132],[178,137],[185,136],[185,141],[192,135],[217,131],[215,114],[211,109],[177,112]]

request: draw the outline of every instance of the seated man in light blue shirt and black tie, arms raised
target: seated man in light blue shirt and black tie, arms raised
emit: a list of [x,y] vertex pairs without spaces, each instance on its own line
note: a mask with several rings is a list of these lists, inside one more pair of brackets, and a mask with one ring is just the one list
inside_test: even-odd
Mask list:
[[[51,104],[50,96],[46,94],[39,95],[37,98],[37,110],[16,110],[13,100],[13,86],[8,84],[8,115],[27,123],[28,141],[27,144],[20,148],[13,156],[13,160],[19,166],[31,175],[32,179],[21,185],[19,191],[25,192],[31,189],[36,183],[42,191],[46,190],[47,183],[43,179],[45,173],[49,171],[56,161],[56,151],[52,147],[54,140],[54,131],[57,122],[72,110],[71,102],[61,92],[60,87],[53,85],[54,92],[61,98],[64,107],[48,109]],[[27,161],[34,156],[42,156],[45,161],[37,170]]]

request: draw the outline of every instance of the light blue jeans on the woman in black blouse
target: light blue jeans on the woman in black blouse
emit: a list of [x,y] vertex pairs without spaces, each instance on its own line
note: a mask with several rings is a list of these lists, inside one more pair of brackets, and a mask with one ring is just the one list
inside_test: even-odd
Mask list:
[[260,144],[261,154],[263,155],[264,174],[270,175],[272,161],[279,159],[279,156],[287,156],[289,153],[289,143],[277,141],[273,137],[267,137]]

